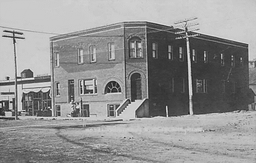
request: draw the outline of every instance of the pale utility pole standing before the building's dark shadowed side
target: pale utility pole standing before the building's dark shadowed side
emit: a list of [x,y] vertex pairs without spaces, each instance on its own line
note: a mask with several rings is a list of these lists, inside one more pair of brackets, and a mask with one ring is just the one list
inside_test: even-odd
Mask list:
[[[190,18],[190,19],[185,19],[185,20],[180,20],[180,21],[174,22],[174,24],[182,24],[181,27],[184,28],[183,31],[175,32],[175,34],[183,35],[182,37],[177,37],[176,39],[184,39],[185,38],[186,42],[187,42],[188,83],[189,83],[189,114],[190,115],[193,115],[194,113],[193,113],[193,85],[192,85],[192,72],[191,72],[189,37],[199,36],[199,34],[189,35],[188,32],[197,31],[197,30],[199,30],[199,28],[188,30],[188,27],[199,25],[199,24],[198,23],[197,24],[188,24],[188,21],[195,20],[195,19],[197,19],[197,18]],[[182,34],[182,33],[185,33],[185,35]]]

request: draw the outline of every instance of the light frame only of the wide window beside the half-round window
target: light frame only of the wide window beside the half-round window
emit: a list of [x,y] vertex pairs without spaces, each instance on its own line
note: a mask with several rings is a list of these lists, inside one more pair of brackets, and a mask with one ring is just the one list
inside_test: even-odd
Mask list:
[[[88,94],[85,94],[85,81],[90,81],[92,80],[92,87],[93,87],[93,90],[92,90],[92,93],[88,93]],[[81,83],[82,81],[82,83]],[[81,85],[82,84],[82,85]],[[96,78],[92,78],[92,79],[79,79],[78,80],[78,92],[79,92],[79,96],[88,96],[88,95],[97,95],[98,94],[98,91],[97,91],[97,79]],[[82,91],[81,91],[82,89]]]

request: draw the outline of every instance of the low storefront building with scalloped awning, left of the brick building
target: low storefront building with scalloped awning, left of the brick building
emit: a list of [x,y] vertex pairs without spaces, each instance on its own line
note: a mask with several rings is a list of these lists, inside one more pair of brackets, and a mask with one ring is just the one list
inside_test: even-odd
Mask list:
[[[33,77],[30,69],[21,72],[17,78],[18,112],[26,110],[30,115],[37,115],[38,110],[51,109],[50,79],[50,75]],[[15,110],[15,80],[9,77],[0,81],[0,108],[5,112]]]

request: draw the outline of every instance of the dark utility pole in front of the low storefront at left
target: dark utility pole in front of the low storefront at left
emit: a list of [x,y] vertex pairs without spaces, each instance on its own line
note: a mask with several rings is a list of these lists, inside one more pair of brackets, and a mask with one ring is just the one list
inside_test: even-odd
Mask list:
[[15,34],[22,35],[22,32],[16,32],[16,31],[8,31],[4,30],[3,32],[7,33],[13,33],[12,36],[3,35],[3,37],[9,37],[13,39],[13,45],[14,45],[14,63],[15,63],[15,120],[18,120],[18,88],[17,88],[17,63],[16,63],[16,39],[25,39],[24,37],[15,36]]

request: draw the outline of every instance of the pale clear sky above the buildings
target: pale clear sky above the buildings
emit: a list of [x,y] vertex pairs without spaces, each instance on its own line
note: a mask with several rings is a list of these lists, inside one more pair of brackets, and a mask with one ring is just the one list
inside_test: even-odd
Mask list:
[[[247,43],[249,60],[256,59],[255,0],[1,0],[0,32],[15,28],[24,33],[25,39],[16,40],[17,73],[29,68],[37,76],[50,74],[49,38],[56,34],[124,21],[173,26],[195,16],[198,33]],[[15,77],[14,45],[11,38],[0,37],[0,80],[6,76]]]

